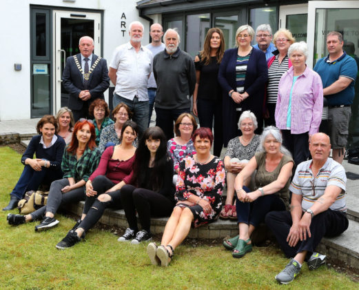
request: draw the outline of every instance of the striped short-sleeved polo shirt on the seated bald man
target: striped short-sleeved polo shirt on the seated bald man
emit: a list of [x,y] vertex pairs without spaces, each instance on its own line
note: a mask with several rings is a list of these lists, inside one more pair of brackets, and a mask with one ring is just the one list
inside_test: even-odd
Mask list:
[[347,176],[345,175],[344,167],[328,158],[316,177],[314,177],[311,171],[311,162],[312,160],[308,160],[298,165],[296,174],[289,186],[292,193],[302,195],[302,210],[307,211],[319,197],[324,195],[327,186],[335,185],[342,189],[342,192],[336,197],[336,201],[331,204],[330,209],[346,212],[345,191]]

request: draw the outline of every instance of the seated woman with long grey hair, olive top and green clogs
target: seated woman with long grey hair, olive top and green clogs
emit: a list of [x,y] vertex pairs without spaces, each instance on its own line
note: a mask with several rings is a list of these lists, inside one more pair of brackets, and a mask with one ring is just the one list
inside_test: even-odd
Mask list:
[[[279,129],[274,126],[265,128],[260,136],[259,148],[260,152],[240,171],[234,184],[239,235],[223,242],[234,258],[241,258],[252,251],[250,237],[269,211],[289,210],[289,184],[294,161],[282,146]],[[254,171],[257,171],[256,190],[250,192],[244,181]]]

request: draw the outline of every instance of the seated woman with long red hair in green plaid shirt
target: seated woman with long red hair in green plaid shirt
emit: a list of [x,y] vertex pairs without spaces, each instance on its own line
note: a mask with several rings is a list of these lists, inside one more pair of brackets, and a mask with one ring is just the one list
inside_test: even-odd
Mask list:
[[[48,203],[28,215],[8,215],[9,224],[23,224],[43,217],[35,231],[59,224],[54,218],[61,204],[85,200],[85,184],[99,165],[101,152],[96,147],[96,133],[91,120],[80,119],[74,126],[72,140],[65,148],[61,168],[63,179],[52,182]],[[45,215],[44,215],[45,214]]]

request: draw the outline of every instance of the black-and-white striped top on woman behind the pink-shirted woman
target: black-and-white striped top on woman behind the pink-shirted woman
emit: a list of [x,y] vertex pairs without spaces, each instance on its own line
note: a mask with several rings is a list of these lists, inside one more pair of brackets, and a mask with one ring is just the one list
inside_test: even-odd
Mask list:
[[289,57],[286,55],[279,64],[278,55],[268,68],[267,103],[276,104],[278,97],[278,85],[282,75],[289,69]]

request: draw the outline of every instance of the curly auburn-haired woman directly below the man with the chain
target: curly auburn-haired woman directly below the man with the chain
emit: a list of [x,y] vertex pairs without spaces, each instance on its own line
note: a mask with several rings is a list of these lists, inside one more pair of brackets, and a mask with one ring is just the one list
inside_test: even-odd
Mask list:
[[114,124],[114,122],[108,117],[110,115],[110,110],[103,99],[95,99],[92,101],[88,111],[91,116],[94,116],[93,122],[96,131],[96,145],[99,146],[102,129]]

